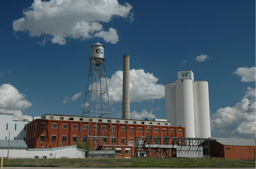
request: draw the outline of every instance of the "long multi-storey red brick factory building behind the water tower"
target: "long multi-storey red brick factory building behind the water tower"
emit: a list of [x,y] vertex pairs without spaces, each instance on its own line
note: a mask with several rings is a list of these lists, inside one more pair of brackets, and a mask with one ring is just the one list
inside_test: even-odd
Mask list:
[[[81,116],[43,115],[42,119],[36,119],[27,124],[28,148],[52,148],[66,145],[74,145],[79,137]],[[102,136],[101,119],[95,117],[90,122],[90,135]],[[87,136],[89,117],[84,117],[81,129],[81,137]],[[148,133],[147,126],[151,126]],[[125,120],[112,118],[113,135],[117,157],[134,157],[135,137],[159,136],[159,137],[185,137],[185,127],[171,126],[170,122],[149,120]],[[109,118],[103,119],[104,136],[112,136]],[[86,141],[86,139],[84,139]],[[104,150],[113,148],[112,138],[90,139],[93,147]],[[164,140],[159,140],[163,144]],[[165,143],[166,144],[166,143]],[[167,143],[171,144],[171,143]]]

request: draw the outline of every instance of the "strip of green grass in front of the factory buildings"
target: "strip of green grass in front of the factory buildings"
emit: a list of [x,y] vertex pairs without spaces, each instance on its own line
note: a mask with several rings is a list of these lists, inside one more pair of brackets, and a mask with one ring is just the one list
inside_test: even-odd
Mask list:
[[84,158],[84,159],[9,159],[3,166],[24,167],[255,167],[255,160],[212,158]]

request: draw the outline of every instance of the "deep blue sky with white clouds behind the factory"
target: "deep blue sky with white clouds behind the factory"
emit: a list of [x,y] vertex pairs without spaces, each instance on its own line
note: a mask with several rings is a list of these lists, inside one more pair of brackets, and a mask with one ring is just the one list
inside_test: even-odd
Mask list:
[[112,118],[130,55],[131,117],[165,118],[164,84],[209,82],[212,137],[255,138],[255,1],[1,1],[0,112],[81,116],[93,44]]

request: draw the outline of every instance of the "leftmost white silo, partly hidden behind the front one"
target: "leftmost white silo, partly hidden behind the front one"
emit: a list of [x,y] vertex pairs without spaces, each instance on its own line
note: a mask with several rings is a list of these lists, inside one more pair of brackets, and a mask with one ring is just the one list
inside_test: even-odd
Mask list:
[[166,83],[164,85],[165,94],[165,118],[176,126],[176,101],[175,101],[175,83]]

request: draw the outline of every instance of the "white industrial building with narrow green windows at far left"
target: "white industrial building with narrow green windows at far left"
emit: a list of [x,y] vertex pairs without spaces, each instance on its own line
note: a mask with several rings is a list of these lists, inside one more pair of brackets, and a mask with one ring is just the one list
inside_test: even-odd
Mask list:
[[0,139],[8,140],[10,131],[10,140],[24,140],[27,138],[26,125],[29,123],[27,119],[23,121],[12,120],[12,113],[0,113]]

